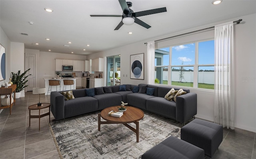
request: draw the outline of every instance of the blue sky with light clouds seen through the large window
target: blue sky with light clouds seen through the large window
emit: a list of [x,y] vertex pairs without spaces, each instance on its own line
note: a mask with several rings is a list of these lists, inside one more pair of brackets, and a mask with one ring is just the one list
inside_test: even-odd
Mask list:
[[[170,47],[160,48],[170,52]],[[195,64],[195,43],[178,45],[172,47],[172,65],[194,65]],[[198,64],[214,64],[214,40],[198,43]],[[169,65],[169,55],[164,55],[163,65]],[[200,69],[213,69],[213,67],[200,67]]]

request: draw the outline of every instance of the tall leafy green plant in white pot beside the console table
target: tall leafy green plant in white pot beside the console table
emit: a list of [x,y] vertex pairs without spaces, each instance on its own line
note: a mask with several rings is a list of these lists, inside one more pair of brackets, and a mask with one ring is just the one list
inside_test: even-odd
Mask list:
[[20,98],[21,95],[21,91],[24,90],[28,85],[25,85],[26,82],[28,82],[27,77],[29,75],[26,76],[26,73],[29,71],[30,69],[28,69],[27,71],[25,71],[24,73],[20,74],[20,71],[18,71],[17,73],[12,72],[12,83],[17,85],[16,88],[16,98]]

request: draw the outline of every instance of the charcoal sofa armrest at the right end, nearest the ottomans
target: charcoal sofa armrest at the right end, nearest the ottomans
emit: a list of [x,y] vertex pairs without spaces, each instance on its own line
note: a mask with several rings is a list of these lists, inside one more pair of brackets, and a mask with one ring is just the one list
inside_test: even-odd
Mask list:
[[197,94],[188,93],[176,98],[176,120],[186,122],[197,114]]

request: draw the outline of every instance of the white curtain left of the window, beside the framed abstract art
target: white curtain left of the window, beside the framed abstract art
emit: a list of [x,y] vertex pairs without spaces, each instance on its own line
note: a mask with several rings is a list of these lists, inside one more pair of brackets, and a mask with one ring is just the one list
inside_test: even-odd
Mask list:
[[147,53],[147,62],[148,62],[148,84],[154,84],[154,59],[155,59],[155,41],[150,41],[147,43],[148,53]]

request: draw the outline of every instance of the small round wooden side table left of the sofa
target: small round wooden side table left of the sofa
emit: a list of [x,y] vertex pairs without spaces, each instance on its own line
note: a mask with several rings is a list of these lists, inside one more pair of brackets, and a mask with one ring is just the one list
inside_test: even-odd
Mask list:
[[[40,130],[40,118],[44,117],[44,116],[48,116],[49,115],[49,123],[50,123],[50,103],[42,103],[42,106],[37,106],[37,104],[31,105],[28,107],[29,109],[29,126],[30,126],[30,119],[31,118],[39,118],[39,130]],[[49,107],[49,112],[48,113],[44,113],[40,115],[40,110],[44,109],[44,108],[48,108]],[[39,115],[31,115],[30,112],[31,110],[39,110]]]

